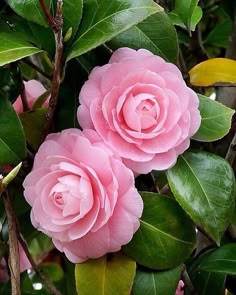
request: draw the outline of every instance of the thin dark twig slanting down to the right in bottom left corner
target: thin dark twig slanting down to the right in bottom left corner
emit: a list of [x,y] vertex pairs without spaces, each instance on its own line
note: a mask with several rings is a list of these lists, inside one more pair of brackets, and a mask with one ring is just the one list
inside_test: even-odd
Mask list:
[[34,259],[32,258],[29,249],[27,247],[26,242],[22,238],[22,236],[18,233],[18,240],[22,246],[22,248],[25,251],[25,254],[27,258],[29,259],[30,264],[32,265],[34,271],[36,274],[40,277],[42,280],[43,285],[50,291],[53,295],[62,295],[59,290],[53,285],[53,283],[46,277],[46,275],[42,272],[42,270],[38,267],[38,265],[35,263]]

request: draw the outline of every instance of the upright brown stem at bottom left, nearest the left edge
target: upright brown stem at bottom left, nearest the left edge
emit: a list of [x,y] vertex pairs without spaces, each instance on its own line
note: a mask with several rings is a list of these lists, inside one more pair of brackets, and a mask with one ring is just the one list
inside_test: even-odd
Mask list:
[[12,208],[10,196],[5,190],[2,194],[4,208],[7,215],[8,233],[9,233],[9,269],[11,273],[11,294],[20,295],[20,260],[19,247],[17,239],[17,224]]

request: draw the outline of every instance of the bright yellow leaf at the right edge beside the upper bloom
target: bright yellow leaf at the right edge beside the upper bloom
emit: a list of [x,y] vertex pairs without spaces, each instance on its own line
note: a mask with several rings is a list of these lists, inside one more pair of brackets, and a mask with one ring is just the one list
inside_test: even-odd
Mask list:
[[201,62],[189,71],[194,86],[236,84],[236,61],[228,58],[212,58]]

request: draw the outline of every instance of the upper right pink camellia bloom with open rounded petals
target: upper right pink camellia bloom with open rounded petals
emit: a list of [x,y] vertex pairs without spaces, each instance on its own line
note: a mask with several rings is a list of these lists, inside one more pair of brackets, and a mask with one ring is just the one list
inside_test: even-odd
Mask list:
[[79,100],[80,125],[137,174],[173,166],[201,121],[198,97],[178,68],[145,49],[115,51],[91,72]]

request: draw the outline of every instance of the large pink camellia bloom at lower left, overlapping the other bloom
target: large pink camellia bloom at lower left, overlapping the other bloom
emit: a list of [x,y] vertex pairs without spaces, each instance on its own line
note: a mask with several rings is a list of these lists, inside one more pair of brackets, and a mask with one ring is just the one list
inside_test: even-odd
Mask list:
[[120,250],[139,227],[133,173],[93,130],[49,135],[23,186],[32,224],[74,263]]

